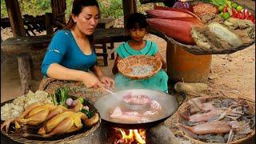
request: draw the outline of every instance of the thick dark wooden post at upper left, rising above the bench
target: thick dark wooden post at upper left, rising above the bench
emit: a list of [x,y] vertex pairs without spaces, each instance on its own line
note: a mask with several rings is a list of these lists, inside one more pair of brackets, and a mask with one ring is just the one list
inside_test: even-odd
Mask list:
[[18,6],[18,0],[5,0],[5,2],[14,38],[26,36],[22,13]]

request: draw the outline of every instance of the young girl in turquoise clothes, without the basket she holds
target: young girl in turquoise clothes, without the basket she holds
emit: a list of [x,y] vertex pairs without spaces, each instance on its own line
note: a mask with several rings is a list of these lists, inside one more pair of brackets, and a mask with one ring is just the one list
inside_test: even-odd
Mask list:
[[156,43],[143,40],[144,36],[147,34],[146,29],[148,27],[146,16],[139,13],[131,14],[127,19],[126,27],[131,39],[118,46],[116,50],[117,58],[115,59],[112,69],[113,74],[116,74],[114,80],[116,88],[118,90],[132,88],[153,89],[168,93],[168,76],[164,70],[159,70],[153,77],[145,79],[130,79],[118,73],[118,61],[130,55],[142,54],[154,56],[161,60],[162,69],[166,68],[166,62],[159,53]]

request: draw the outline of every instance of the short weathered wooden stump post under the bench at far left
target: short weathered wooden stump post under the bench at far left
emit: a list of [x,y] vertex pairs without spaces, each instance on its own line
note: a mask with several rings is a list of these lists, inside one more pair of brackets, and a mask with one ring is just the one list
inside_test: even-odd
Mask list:
[[22,94],[31,89],[30,56],[26,53],[18,54],[18,74],[22,84]]

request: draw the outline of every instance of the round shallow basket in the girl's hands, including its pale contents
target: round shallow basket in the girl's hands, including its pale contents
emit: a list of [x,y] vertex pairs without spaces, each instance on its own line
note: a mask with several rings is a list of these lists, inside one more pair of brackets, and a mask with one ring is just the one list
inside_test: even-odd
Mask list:
[[150,78],[161,68],[162,62],[148,55],[133,55],[118,62],[118,71],[133,79]]

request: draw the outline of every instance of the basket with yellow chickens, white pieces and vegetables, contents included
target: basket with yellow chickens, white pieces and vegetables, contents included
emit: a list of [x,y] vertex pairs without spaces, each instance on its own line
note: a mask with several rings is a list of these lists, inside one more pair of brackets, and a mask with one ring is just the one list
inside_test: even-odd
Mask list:
[[29,92],[1,103],[1,133],[21,143],[58,143],[84,138],[101,122],[94,105],[66,88]]

